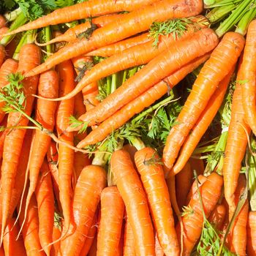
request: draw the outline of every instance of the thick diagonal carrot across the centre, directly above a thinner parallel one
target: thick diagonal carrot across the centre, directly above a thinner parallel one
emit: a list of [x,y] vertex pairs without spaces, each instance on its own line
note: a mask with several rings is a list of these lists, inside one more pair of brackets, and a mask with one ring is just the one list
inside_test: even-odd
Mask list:
[[96,108],[88,111],[84,115],[83,121],[89,122],[89,125],[104,121],[121,107],[150,89],[154,84],[159,83],[163,78],[181,69],[193,59],[208,53],[217,45],[217,42],[218,39],[214,31],[201,29],[189,39],[180,41],[172,48],[164,50],[104,99],[103,102],[99,103]]

